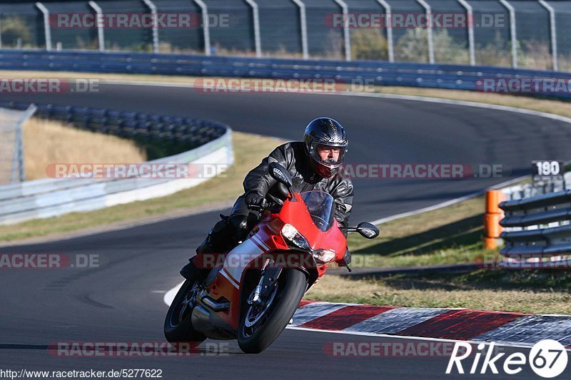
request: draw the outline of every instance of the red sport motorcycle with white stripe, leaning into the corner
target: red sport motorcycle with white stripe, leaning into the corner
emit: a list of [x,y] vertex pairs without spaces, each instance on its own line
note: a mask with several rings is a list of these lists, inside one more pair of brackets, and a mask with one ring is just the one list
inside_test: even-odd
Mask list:
[[[178,290],[166,315],[168,342],[238,339],[244,352],[261,352],[283,332],[330,262],[350,271],[333,197],[323,191],[292,192],[290,173],[277,163],[269,172],[287,188],[283,205],[259,207],[264,212],[258,225],[230,252],[203,254],[205,267],[213,269],[205,282],[186,279]],[[344,230],[368,239],[379,235],[367,222]]]

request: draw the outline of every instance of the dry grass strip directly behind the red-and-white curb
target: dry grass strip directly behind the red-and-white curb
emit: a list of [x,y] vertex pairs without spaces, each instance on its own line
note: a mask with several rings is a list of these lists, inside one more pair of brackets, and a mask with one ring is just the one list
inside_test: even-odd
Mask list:
[[383,279],[325,274],[305,298],[403,307],[571,314],[570,284],[571,274],[562,271],[479,270],[469,274]]

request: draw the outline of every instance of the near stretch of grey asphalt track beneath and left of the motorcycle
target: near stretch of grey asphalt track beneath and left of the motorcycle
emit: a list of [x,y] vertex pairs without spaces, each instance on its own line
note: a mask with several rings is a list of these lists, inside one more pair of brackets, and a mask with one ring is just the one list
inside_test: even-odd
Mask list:
[[[449,356],[333,357],[324,352],[331,342],[405,339],[296,330],[285,330],[275,344],[258,355],[243,354],[235,341],[223,341],[218,356],[211,354],[213,348],[208,346],[202,346],[198,356],[180,358],[70,358],[49,354],[47,346],[56,342],[163,342],[167,309],[163,292],[180,282],[177,271],[187,247],[198,245],[203,226],[214,220],[211,214],[186,217],[3,250],[58,252],[70,257],[96,254],[100,255],[101,267],[4,270],[0,277],[0,368],[162,369],[164,379],[394,379],[397,374],[402,379],[454,377],[445,375]],[[514,351],[504,350],[506,354]],[[527,355],[529,350],[515,351]],[[466,366],[468,371],[470,364]],[[535,379],[532,375],[527,367],[518,379]],[[493,379],[508,377],[489,375]]]

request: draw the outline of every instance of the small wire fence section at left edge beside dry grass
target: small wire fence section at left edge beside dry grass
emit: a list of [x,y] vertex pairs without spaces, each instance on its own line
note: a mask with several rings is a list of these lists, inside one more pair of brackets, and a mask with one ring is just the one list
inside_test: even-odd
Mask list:
[[0,185],[24,182],[24,144],[22,124],[36,112],[31,105],[25,111],[0,108]]

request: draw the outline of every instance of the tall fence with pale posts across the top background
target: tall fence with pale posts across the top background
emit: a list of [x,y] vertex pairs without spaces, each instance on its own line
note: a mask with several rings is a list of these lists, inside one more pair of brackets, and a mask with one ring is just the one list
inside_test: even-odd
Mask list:
[[[155,21],[144,22],[144,16],[151,14]],[[168,15],[176,17],[164,17]],[[121,24],[121,17],[126,24]],[[182,22],[184,17],[191,22]],[[2,48],[387,60],[570,71],[570,31],[571,0],[72,0],[0,4]]]

